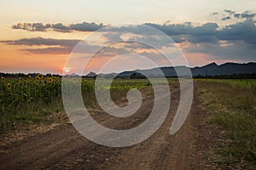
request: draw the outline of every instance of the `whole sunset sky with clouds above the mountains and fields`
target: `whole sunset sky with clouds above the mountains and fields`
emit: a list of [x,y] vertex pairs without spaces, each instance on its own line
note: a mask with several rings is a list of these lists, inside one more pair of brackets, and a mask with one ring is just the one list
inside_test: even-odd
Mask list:
[[[75,72],[77,68],[67,63],[70,56],[86,63],[90,50],[103,45],[107,47],[90,59],[84,72],[154,67],[147,59],[156,66],[170,65],[157,50],[168,51],[172,65],[256,61],[255,0],[0,0],[0,4],[0,72]],[[133,24],[130,33],[126,25],[98,31],[124,24]],[[145,33],[140,30],[142,24],[174,42]],[[117,42],[124,40],[157,44],[148,48],[137,42]],[[83,53],[75,49],[77,44],[83,44]],[[181,55],[186,63],[178,59]]]

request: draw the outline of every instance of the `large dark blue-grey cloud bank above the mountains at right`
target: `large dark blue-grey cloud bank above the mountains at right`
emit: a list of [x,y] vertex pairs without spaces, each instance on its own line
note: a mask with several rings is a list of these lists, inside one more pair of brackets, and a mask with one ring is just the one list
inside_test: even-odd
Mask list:
[[[227,12],[236,14],[235,11]],[[253,15],[242,14],[246,20],[224,27],[219,27],[217,23],[207,23],[201,26],[188,26],[187,24],[182,26],[151,24],[150,26],[165,31],[170,37],[176,37],[175,40],[179,43],[189,42],[189,45],[183,48],[185,52],[209,54],[215,56],[215,59],[255,60],[255,21],[251,18]]]

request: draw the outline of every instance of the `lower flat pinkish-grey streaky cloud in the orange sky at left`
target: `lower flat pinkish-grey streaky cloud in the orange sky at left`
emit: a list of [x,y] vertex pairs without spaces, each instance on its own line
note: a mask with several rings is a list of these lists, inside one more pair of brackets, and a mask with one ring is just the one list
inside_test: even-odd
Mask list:
[[[44,37],[32,37],[32,38],[22,38],[18,40],[7,40],[0,41],[9,45],[22,45],[22,46],[49,46],[47,48],[23,48],[20,51],[28,52],[30,54],[70,54],[75,48],[73,53],[78,54],[90,54],[91,51],[96,51],[96,49],[101,49],[101,46],[88,44],[85,41],[80,41],[76,39],[53,39]],[[114,54],[126,54],[130,51],[125,48],[113,48],[105,47],[96,53],[96,57],[111,56]]]

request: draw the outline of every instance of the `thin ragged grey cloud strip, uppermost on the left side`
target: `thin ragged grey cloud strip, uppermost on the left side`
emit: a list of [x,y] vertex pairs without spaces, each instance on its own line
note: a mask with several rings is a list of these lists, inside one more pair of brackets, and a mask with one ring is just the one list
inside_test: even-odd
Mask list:
[[71,31],[96,31],[101,29],[104,25],[96,24],[94,22],[83,22],[78,24],[72,24],[65,26],[62,23],[57,24],[43,24],[43,23],[18,23],[12,26],[13,29],[20,29],[26,31],[61,31],[61,32],[71,32]]

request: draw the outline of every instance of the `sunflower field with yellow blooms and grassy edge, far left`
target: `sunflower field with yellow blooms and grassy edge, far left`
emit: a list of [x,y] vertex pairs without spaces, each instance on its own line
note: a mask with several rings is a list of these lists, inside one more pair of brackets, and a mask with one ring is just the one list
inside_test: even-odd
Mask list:
[[[16,125],[53,122],[50,114],[63,112],[61,78],[58,76],[1,77],[0,80],[0,132]],[[77,83],[74,77],[68,77]],[[84,96],[92,96],[93,81],[82,81]],[[65,116],[65,114],[64,114]]]

